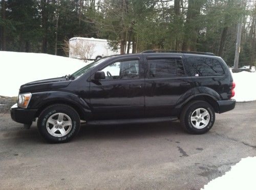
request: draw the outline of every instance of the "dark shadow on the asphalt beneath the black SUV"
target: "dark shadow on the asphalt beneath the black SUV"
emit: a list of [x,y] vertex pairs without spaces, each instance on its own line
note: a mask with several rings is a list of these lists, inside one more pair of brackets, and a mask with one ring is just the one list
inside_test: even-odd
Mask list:
[[[161,137],[166,134],[185,133],[179,122],[155,122],[145,124],[120,125],[87,125],[81,124],[78,135],[72,141],[83,140],[115,140],[115,139],[141,139],[148,137]],[[7,128],[2,134],[10,143],[36,143],[45,144],[46,141],[39,134],[33,124],[30,129],[24,129],[22,124]]]

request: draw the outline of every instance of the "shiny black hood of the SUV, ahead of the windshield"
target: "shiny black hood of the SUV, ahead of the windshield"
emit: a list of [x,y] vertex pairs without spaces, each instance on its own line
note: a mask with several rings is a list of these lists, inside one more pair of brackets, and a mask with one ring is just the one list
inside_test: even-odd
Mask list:
[[67,80],[66,77],[49,78],[44,80],[36,80],[31,83],[20,86],[19,92],[42,92],[62,89],[67,87],[71,83],[71,80]]

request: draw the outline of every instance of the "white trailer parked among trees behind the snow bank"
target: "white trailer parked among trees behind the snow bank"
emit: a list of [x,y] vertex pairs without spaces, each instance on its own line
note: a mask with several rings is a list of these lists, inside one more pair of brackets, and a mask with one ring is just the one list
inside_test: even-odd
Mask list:
[[[132,48],[130,52],[132,53]],[[70,58],[97,60],[117,54],[120,54],[120,48],[112,50],[105,39],[74,37],[69,40]]]

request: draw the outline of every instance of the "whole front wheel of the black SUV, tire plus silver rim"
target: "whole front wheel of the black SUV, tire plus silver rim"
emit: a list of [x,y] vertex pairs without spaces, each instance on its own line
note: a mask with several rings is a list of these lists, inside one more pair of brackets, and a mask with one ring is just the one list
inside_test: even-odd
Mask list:
[[46,141],[66,143],[79,132],[80,118],[73,107],[65,104],[54,104],[40,113],[37,127]]

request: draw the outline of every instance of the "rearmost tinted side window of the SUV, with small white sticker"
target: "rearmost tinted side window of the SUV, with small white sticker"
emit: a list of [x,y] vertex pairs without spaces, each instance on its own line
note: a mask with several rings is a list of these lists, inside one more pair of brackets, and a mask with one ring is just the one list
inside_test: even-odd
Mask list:
[[214,58],[188,58],[193,67],[194,76],[222,76],[224,70],[221,63]]

